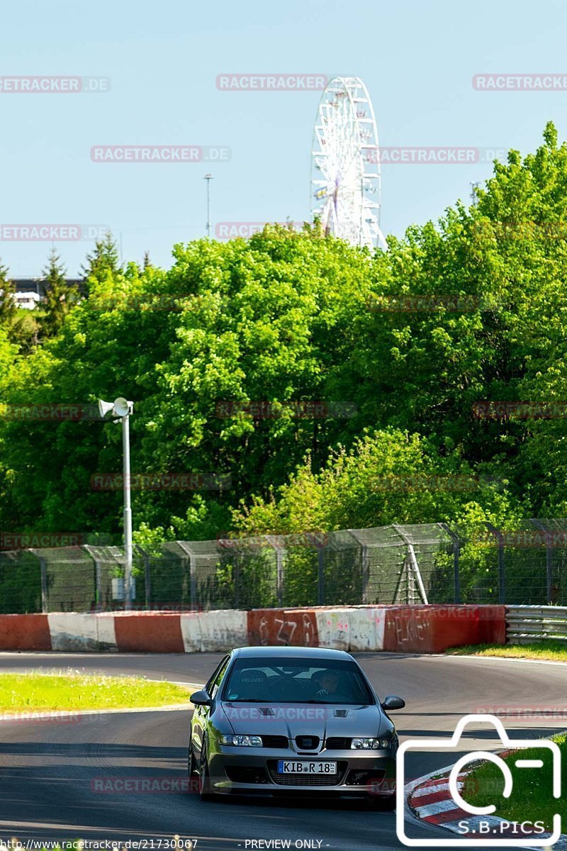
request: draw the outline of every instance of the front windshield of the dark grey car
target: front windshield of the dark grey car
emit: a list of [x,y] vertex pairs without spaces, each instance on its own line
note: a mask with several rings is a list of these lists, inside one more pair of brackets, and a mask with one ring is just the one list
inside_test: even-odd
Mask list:
[[223,700],[262,703],[374,703],[360,668],[349,660],[237,659]]

